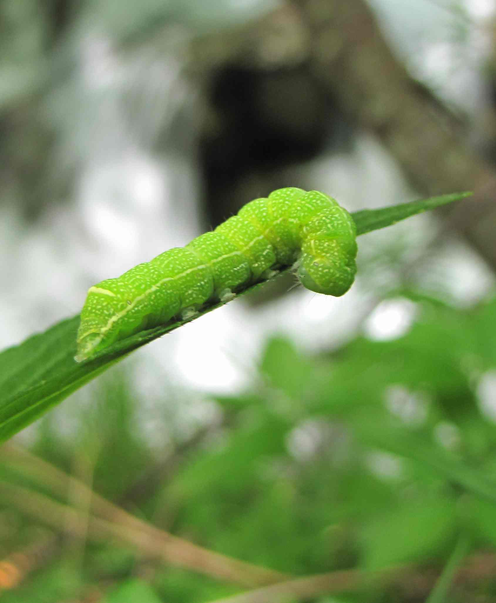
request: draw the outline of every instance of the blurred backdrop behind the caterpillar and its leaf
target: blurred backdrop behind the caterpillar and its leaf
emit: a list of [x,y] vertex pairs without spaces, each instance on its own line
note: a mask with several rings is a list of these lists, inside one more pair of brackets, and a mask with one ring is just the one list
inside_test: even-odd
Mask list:
[[0,57],[2,349],[283,186],[475,192],[359,238],[343,298],[285,275],[2,447],[0,600],[416,603],[459,555],[435,600],[496,601],[495,2],[2,0]]

